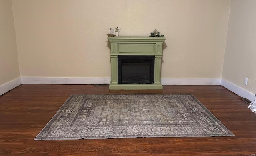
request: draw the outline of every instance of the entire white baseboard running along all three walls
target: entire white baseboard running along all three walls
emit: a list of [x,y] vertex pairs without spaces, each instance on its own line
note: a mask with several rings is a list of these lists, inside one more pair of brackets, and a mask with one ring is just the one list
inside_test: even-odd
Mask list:
[[[20,84],[110,84],[111,78],[19,77],[0,86],[0,95]],[[255,95],[220,78],[161,78],[162,85],[221,85],[235,94],[254,101]]]

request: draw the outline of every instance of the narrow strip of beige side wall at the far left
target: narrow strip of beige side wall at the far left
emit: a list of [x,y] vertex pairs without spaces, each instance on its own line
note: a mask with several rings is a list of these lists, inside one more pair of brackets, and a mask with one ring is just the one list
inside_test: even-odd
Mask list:
[[0,85],[20,77],[18,52],[10,0],[0,1]]

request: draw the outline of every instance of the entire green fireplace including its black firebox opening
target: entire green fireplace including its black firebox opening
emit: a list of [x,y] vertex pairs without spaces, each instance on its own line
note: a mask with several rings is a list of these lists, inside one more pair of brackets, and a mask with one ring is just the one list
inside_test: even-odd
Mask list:
[[[109,89],[161,90],[163,88],[160,82],[162,44],[165,39],[165,37],[108,37],[111,49]],[[139,71],[142,73],[138,73]]]

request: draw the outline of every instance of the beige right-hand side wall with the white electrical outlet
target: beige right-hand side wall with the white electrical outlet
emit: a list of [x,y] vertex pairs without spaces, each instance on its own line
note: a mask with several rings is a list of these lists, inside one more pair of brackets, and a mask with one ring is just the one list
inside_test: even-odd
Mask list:
[[256,1],[231,2],[222,78],[256,92]]

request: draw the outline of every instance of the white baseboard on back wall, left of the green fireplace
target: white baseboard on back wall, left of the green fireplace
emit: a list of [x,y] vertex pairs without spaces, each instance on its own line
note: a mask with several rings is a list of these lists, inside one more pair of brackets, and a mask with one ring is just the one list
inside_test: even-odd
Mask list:
[[22,77],[22,84],[110,84],[110,78]]

